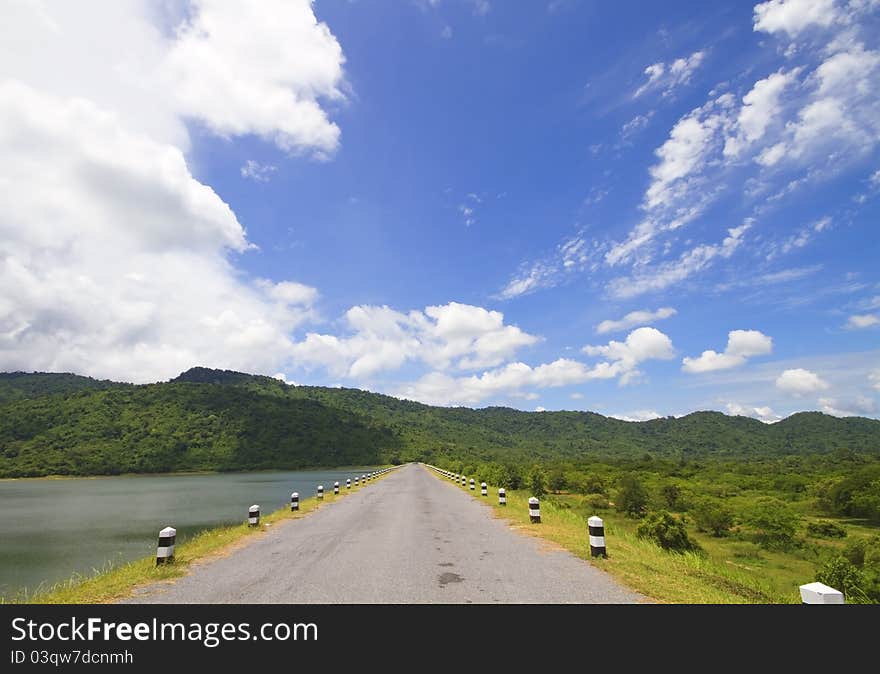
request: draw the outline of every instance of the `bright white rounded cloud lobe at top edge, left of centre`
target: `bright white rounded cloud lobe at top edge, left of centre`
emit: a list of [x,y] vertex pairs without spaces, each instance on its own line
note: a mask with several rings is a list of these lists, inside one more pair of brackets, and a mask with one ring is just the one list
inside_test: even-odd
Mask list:
[[339,127],[321,101],[342,101],[345,58],[311,0],[194,0],[163,77],[177,109],[221,136],[255,134],[288,152],[333,153]]

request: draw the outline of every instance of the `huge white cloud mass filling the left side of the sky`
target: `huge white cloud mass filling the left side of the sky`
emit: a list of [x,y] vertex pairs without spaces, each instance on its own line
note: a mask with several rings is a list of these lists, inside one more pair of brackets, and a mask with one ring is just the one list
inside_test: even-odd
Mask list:
[[100,22],[71,3],[4,8],[0,369],[282,371],[317,292],[233,267],[253,246],[192,175],[186,120],[331,152],[318,101],[339,100],[335,38],[305,0],[196,2],[170,35],[150,3],[95,7]]

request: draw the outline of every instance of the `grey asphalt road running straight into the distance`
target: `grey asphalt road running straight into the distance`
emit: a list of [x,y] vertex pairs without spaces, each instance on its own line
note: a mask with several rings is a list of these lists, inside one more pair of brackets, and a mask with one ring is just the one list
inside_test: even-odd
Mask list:
[[[586,535],[586,531],[584,532]],[[623,603],[642,597],[407,465],[137,603]]]

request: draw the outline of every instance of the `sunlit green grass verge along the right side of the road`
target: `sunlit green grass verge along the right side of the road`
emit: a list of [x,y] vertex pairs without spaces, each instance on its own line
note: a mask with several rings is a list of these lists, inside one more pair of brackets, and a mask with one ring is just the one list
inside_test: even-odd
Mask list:
[[[447,480],[440,475],[441,480]],[[451,480],[448,480],[452,482]],[[598,513],[605,521],[608,558],[591,558],[586,518],[592,512],[584,500],[575,496],[547,496],[541,499],[541,524],[531,524],[528,516],[529,493],[507,490],[507,505],[498,505],[497,487],[489,495],[473,498],[487,503],[497,517],[510,522],[522,533],[546,539],[572,552],[581,559],[608,572],[613,578],[649,600],[678,604],[786,604],[799,603],[797,585],[767,582],[760,574],[750,573],[734,564],[727,564],[707,550],[706,554],[671,553],[635,535],[636,523],[616,514]],[[701,545],[708,537],[699,537]],[[710,547],[704,545],[704,547]],[[768,553],[761,555],[772,558]],[[776,560],[778,561],[778,560]],[[743,562],[751,566],[750,560]],[[812,571],[808,576],[812,580]],[[801,582],[807,582],[801,577]]]

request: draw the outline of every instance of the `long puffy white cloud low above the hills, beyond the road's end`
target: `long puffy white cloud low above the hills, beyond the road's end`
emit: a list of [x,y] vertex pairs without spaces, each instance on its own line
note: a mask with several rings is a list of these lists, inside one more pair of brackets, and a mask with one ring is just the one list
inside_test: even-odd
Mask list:
[[354,379],[396,370],[408,360],[440,370],[472,370],[500,365],[520,348],[538,342],[518,327],[505,325],[498,311],[457,302],[409,313],[356,306],[348,310],[345,321],[353,334],[309,333],[293,347],[297,362]]

